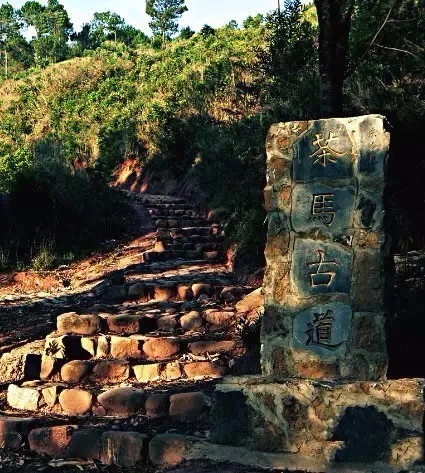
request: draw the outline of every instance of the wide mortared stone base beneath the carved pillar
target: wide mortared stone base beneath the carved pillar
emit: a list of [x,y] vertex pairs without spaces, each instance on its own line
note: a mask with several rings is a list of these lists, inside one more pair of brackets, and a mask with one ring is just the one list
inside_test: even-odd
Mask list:
[[409,469],[424,457],[424,386],[422,379],[226,378],[215,392],[211,441],[281,454],[288,468],[298,458],[308,471],[347,463]]

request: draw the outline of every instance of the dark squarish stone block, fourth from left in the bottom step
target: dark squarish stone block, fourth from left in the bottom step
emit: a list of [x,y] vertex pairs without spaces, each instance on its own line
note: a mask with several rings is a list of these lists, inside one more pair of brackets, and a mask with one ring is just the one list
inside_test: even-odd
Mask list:
[[144,458],[147,436],[138,432],[105,432],[102,435],[101,461],[106,465],[132,468]]

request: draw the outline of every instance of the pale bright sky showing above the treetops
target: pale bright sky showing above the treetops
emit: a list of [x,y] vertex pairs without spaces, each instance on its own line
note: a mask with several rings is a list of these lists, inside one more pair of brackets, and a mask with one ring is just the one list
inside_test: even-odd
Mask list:
[[[9,3],[20,8],[26,0],[9,0]],[[39,0],[46,4],[46,0]],[[93,18],[93,13],[112,11],[121,15],[128,24],[150,34],[149,17],[145,13],[145,0],[61,0],[65,6],[74,29],[78,31],[84,23]],[[277,8],[277,0],[186,0],[188,11],[182,16],[180,25],[190,26],[199,31],[204,24],[214,28],[223,26],[230,20],[238,23],[249,15],[267,13]]]

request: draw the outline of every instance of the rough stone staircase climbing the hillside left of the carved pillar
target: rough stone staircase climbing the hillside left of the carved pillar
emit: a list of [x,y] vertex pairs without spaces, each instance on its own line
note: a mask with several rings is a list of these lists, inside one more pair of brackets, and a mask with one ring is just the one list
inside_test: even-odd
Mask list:
[[240,301],[255,288],[220,263],[220,225],[179,199],[145,205],[157,233],[144,263],[1,358],[0,449],[132,467],[156,434],[207,438],[215,384],[249,353]]

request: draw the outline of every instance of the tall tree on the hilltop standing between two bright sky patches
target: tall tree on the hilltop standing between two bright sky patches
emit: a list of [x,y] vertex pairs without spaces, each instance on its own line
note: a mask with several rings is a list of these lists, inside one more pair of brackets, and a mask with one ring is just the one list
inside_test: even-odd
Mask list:
[[178,31],[178,19],[187,11],[185,0],[146,0],[146,13],[152,18],[149,23],[154,35],[166,40]]

